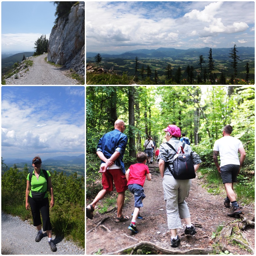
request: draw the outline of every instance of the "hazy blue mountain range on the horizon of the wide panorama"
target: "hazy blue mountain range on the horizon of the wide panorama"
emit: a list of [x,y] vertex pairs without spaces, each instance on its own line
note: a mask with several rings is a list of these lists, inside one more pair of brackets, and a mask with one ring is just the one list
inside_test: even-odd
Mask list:
[[[241,60],[254,60],[255,58],[255,48],[254,47],[236,47],[237,56]],[[98,53],[104,58],[121,58],[121,59],[135,59],[136,57],[140,59],[152,59],[152,58],[167,58],[171,57],[174,59],[184,59],[184,58],[199,58],[203,55],[204,58],[208,57],[210,48],[190,48],[187,50],[175,49],[175,48],[158,48],[158,49],[139,49],[129,52],[124,52],[122,54],[104,54],[100,52],[86,52],[86,58],[94,58]],[[229,53],[231,48],[212,48],[212,57],[216,60],[227,60],[229,59]]]

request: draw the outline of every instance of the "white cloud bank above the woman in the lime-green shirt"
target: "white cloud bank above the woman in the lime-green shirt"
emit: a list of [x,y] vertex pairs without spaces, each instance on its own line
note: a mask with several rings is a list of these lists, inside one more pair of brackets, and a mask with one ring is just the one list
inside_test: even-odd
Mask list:
[[82,122],[77,120],[70,124],[68,120],[71,113],[47,116],[48,113],[45,115],[44,112],[34,103],[30,104],[25,100],[2,100],[1,138],[2,155],[5,158],[28,158],[39,153],[45,157],[67,154],[66,152],[71,152],[72,155],[76,152],[78,155],[83,154],[84,117]]

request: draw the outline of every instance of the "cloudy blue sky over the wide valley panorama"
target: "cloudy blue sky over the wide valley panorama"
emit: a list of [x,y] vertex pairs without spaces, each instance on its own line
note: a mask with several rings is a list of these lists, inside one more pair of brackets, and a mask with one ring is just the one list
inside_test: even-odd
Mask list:
[[254,47],[254,9],[253,1],[88,1],[86,52]]

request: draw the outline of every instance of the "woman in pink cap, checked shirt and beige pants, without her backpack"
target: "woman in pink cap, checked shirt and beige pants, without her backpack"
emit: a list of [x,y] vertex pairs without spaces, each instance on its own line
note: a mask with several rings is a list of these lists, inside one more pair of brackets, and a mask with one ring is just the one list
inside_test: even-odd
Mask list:
[[[192,151],[188,144],[182,143],[178,137],[180,137],[180,128],[174,124],[170,124],[164,129],[167,140],[166,143],[161,144],[160,152],[158,156],[159,170],[163,178],[164,188],[164,200],[166,202],[166,214],[168,228],[171,231],[171,246],[178,247],[180,245],[180,238],[177,235],[177,228],[181,227],[180,219],[184,219],[186,222],[186,235],[196,234],[195,227],[192,226],[190,212],[185,198],[188,196],[189,189],[191,187],[190,180],[175,180],[165,162],[169,162],[169,167],[173,170],[173,157],[178,152],[182,145],[184,146],[184,152],[191,155],[195,172],[202,163],[200,157],[196,152]],[[172,145],[176,152],[170,148],[167,143]]]

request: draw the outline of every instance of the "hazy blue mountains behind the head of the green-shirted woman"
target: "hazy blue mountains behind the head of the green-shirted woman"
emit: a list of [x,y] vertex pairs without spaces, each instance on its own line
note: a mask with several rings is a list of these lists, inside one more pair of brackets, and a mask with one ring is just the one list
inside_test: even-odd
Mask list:
[[[28,164],[28,166],[32,165],[32,159],[25,160],[25,159],[13,159],[13,158],[6,158],[3,159],[4,164]],[[52,158],[47,158],[42,160],[42,164],[45,165],[54,165],[54,166],[66,166],[70,164],[84,164],[85,161],[85,154],[80,156],[56,156]]]

